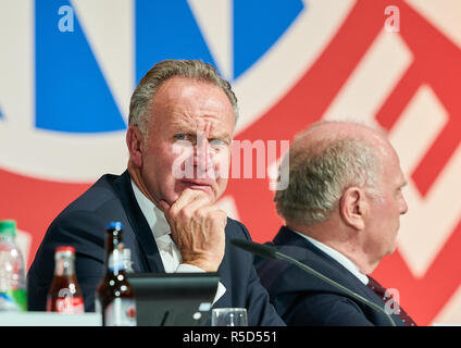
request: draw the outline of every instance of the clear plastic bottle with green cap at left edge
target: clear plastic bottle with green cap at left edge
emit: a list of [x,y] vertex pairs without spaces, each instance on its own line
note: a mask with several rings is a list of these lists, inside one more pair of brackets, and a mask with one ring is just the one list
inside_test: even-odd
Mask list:
[[15,243],[16,222],[0,221],[0,311],[26,311],[23,254]]

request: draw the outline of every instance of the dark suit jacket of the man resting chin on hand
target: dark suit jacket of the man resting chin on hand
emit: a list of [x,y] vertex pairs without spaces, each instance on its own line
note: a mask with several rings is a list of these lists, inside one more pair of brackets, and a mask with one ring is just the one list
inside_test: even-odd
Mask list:
[[[76,249],[75,269],[85,310],[95,311],[95,291],[104,274],[104,227],[112,221],[120,221],[124,225],[123,241],[132,250],[135,272],[164,272],[152,232],[134,196],[128,172],[121,176],[107,174],[49,226],[27,274],[29,310],[46,309],[54,271],[54,249],[57,246],[71,245]],[[285,325],[261,286],[253,257],[229,243],[234,238],[250,239],[247,228],[228,219],[225,234],[225,254],[217,272],[226,293],[214,303],[214,308],[245,307],[249,325]]]

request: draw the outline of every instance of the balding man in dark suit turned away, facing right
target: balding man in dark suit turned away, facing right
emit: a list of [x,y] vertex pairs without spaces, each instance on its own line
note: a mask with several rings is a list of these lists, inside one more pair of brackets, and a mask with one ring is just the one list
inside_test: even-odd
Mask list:
[[[274,201],[285,220],[271,243],[379,306],[396,325],[415,325],[367,276],[394,252],[408,210],[397,152],[385,134],[350,122],[320,122],[295,138],[289,185]],[[262,284],[288,325],[391,325],[389,316],[281,260],[257,260]]]

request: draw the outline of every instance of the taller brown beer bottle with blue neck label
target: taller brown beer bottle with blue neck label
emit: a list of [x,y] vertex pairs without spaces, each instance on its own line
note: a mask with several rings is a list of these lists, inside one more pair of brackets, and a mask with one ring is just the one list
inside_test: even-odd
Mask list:
[[123,225],[107,226],[105,276],[96,291],[96,310],[102,313],[103,326],[136,326],[136,301],[126,278]]

